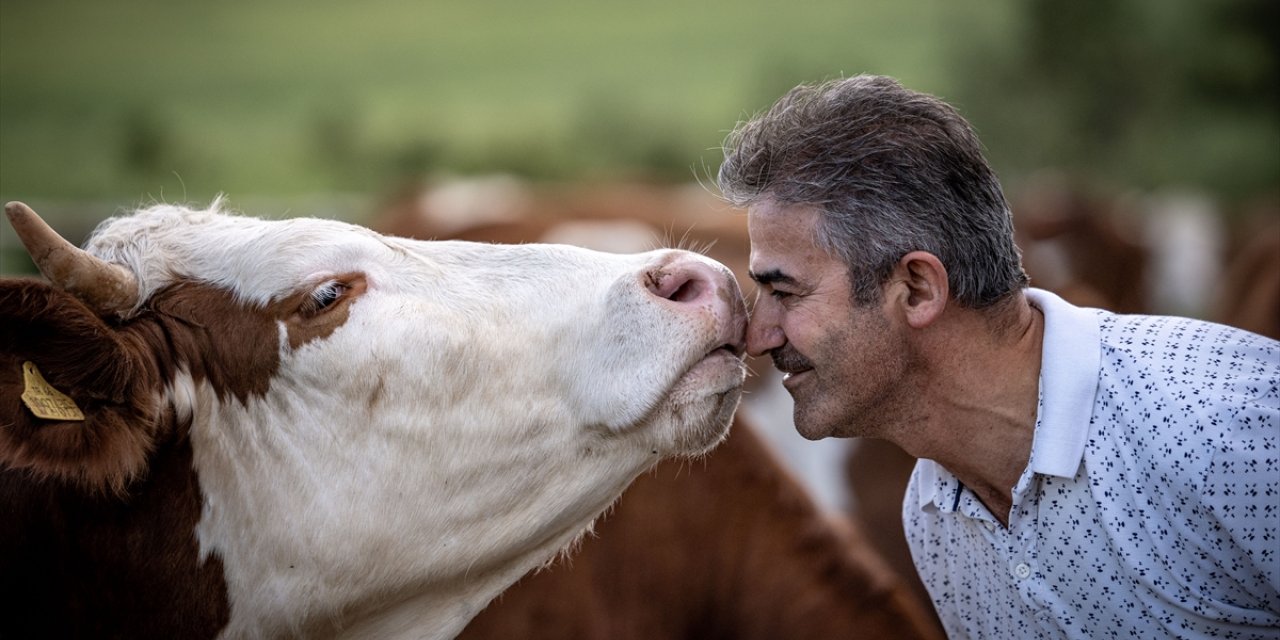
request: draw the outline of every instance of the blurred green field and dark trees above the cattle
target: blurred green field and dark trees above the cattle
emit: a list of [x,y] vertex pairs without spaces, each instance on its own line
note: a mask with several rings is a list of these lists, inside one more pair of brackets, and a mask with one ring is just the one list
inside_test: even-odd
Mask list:
[[860,72],[955,102],[1009,180],[1247,197],[1280,182],[1275,5],[0,0],[0,198],[686,180],[786,88]]

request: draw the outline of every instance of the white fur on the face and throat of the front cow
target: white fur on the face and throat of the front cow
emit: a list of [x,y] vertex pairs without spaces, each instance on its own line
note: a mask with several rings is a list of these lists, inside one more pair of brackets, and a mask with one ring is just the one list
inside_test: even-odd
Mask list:
[[265,305],[367,279],[332,335],[294,351],[282,325],[265,396],[219,402],[186,374],[168,392],[192,419],[225,637],[457,634],[637,474],[718,442],[744,378],[736,358],[704,360],[724,310],[645,289],[669,251],[417,242],[168,206],[105,223],[87,248],[145,297],[193,279]]

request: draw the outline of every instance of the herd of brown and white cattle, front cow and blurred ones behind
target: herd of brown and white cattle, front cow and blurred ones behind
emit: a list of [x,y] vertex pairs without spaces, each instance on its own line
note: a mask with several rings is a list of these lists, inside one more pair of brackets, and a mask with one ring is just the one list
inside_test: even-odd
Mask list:
[[[1119,206],[1021,193],[1033,284],[1280,338],[1275,210],[1169,262]],[[159,209],[87,252],[6,209],[54,284],[0,284],[0,636],[942,636],[913,461],[796,444],[705,188],[458,180],[378,233]]]

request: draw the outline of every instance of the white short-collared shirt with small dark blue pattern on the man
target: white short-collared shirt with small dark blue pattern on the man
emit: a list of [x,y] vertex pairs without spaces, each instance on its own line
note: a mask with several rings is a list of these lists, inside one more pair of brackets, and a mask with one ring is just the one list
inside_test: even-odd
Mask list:
[[1280,343],[1028,298],[1039,410],[1009,527],[929,460],[902,504],[947,634],[1280,637]]

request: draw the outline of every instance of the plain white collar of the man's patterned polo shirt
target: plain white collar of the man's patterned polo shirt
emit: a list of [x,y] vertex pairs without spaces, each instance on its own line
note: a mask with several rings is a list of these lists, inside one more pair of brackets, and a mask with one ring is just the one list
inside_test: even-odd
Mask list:
[[[1041,403],[1032,439],[1032,472],[1075,477],[1084,460],[1089,419],[1102,362],[1098,316],[1043,289],[1027,300],[1044,314],[1041,348]],[[946,502],[954,476],[932,460],[916,462],[919,506]]]

